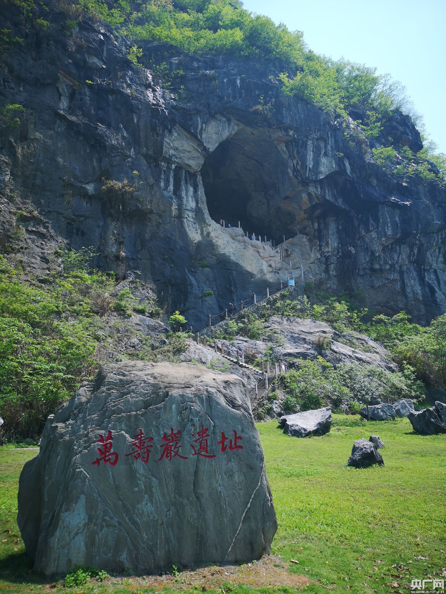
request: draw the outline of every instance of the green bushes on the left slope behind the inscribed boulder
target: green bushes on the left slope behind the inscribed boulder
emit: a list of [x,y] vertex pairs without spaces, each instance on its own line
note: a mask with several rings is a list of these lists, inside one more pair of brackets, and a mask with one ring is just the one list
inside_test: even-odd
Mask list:
[[39,280],[0,256],[0,416],[4,434],[16,439],[38,439],[46,417],[100,364],[178,361],[186,348],[172,333],[152,349],[150,336],[124,323],[132,311],[159,308],[120,290],[114,273],[90,268],[90,249],[59,253],[61,270]]

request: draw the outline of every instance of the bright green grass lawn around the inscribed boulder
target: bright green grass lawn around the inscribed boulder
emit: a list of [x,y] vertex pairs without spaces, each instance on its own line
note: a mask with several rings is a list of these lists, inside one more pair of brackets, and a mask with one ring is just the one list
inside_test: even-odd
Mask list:
[[[274,567],[284,565],[290,577],[305,576],[310,583],[303,580],[301,587],[313,593],[410,592],[412,579],[446,580],[446,435],[416,435],[407,419],[366,422],[343,415],[334,415],[328,435],[309,439],[287,437],[274,422],[257,427],[279,524],[272,545]],[[385,443],[385,466],[348,468],[353,441],[372,433]],[[143,594],[162,589],[162,584],[147,586],[141,576],[121,574],[68,590],[30,571],[15,517],[18,476],[36,453],[0,448],[0,593]],[[209,568],[217,575],[214,570]],[[220,594],[296,589],[290,581],[282,587],[246,582],[214,580],[202,587],[190,572],[180,572],[165,587]]]

